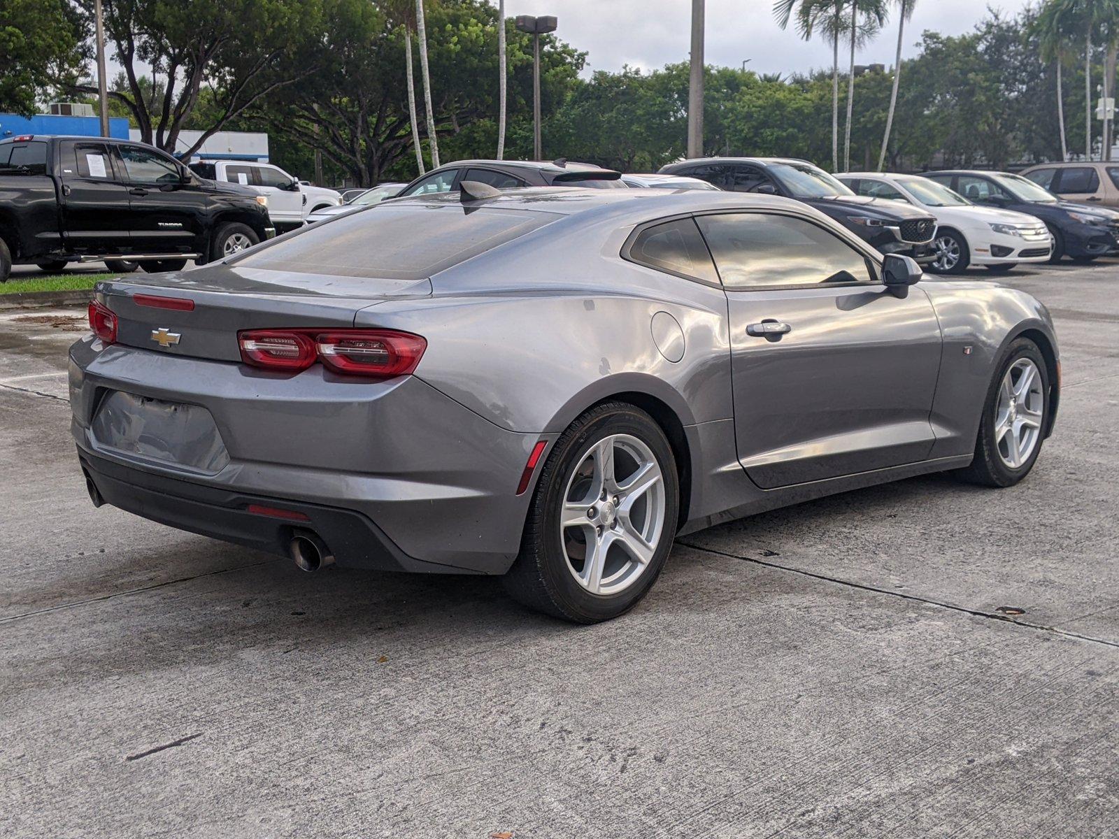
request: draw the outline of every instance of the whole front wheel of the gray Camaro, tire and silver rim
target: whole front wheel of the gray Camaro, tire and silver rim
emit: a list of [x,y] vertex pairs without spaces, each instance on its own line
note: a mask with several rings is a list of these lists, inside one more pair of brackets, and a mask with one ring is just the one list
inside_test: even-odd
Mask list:
[[1004,352],[987,392],[976,453],[959,477],[1013,487],[1034,468],[1049,416],[1049,371],[1037,345],[1018,338]]

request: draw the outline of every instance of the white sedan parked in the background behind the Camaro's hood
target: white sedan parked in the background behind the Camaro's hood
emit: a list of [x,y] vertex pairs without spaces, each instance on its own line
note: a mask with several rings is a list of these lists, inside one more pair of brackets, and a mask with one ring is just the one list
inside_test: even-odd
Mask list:
[[1053,237],[1040,218],[978,207],[929,178],[880,172],[836,177],[858,195],[905,201],[932,213],[937,217],[937,258],[925,267],[933,273],[959,274],[968,265],[1003,273],[1018,263],[1046,262],[1053,249]]

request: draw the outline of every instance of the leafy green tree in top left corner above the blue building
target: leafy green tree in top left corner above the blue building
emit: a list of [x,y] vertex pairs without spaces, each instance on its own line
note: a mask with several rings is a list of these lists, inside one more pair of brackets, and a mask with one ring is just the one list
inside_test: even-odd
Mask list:
[[67,0],[0,3],[0,111],[30,116],[76,84],[88,59],[88,19]]

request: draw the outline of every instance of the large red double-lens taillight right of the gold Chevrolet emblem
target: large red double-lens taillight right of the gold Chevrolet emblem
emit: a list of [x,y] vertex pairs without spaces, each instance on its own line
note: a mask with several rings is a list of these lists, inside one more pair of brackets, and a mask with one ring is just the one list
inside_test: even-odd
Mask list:
[[335,373],[387,378],[420,364],[427,341],[387,329],[252,329],[237,333],[245,364],[271,370],[305,370],[316,360]]

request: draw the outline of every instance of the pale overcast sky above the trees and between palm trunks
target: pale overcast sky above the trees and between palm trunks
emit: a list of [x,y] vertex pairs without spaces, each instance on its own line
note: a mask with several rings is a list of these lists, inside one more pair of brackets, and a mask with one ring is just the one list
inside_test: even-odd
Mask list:
[[[918,0],[904,55],[916,51],[913,45],[924,29],[960,35],[986,16],[987,6],[1015,13],[1028,2]],[[831,48],[824,41],[806,44],[791,26],[782,31],[772,7],[772,0],[707,0],[707,64],[734,66],[749,58],[750,69],[781,74],[830,67]],[[587,54],[591,70],[618,70],[624,64],[649,69],[688,57],[692,0],[506,0],[505,13],[555,15],[557,35]],[[856,60],[892,65],[896,45],[896,21],[891,20]]]

